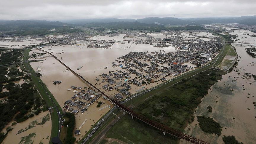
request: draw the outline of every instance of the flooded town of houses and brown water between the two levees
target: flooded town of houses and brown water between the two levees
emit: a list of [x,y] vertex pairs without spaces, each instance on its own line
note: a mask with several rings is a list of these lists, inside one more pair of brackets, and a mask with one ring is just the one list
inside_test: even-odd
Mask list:
[[[107,49],[88,47],[87,44],[63,45],[65,47],[45,45],[40,49],[55,55],[65,65],[95,84],[99,89],[104,90],[109,96],[122,100],[136,92],[141,92],[173,79],[177,75],[196,69],[198,63],[206,64],[217,55],[216,52],[221,46],[217,36],[206,32],[168,32],[166,35],[162,33],[138,33],[140,37],[150,36],[148,41],[153,44],[157,43],[154,39],[171,39],[175,35],[177,35],[177,39],[180,39],[179,42],[167,41],[169,45],[162,48],[153,47],[147,43],[142,44],[143,40],[140,39],[129,39],[130,43],[133,44],[127,46],[125,45],[128,43],[125,41],[126,35],[120,35],[114,36],[112,41],[123,40],[125,41],[124,44],[113,44]],[[90,39],[103,41],[102,39],[107,40],[109,37],[94,36]],[[211,41],[212,44],[204,43],[203,39]],[[137,44],[137,42],[141,42],[141,44]],[[206,45],[211,48],[208,49]],[[198,51],[201,55],[195,56],[201,58],[194,59],[195,56],[191,57],[190,54]],[[107,105],[112,107],[113,105],[103,96],[95,95],[93,89],[93,92],[90,92],[87,84],[49,54],[39,57],[34,55],[36,53],[41,52],[36,49],[31,50],[29,60],[43,61],[31,63],[32,68],[42,74],[42,81],[55,96],[58,104],[63,107],[63,110],[77,114],[77,129],[86,120],[81,127],[81,133],[84,135],[92,124],[109,111],[109,108],[99,111],[99,108],[96,108],[96,102],[105,103],[101,107]],[[177,63],[173,61],[177,61]],[[146,67],[149,69],[145,69]],[[54,84],[53,81],[61,81],[61,83]],[[78,103],[77,106],[75,103]]]

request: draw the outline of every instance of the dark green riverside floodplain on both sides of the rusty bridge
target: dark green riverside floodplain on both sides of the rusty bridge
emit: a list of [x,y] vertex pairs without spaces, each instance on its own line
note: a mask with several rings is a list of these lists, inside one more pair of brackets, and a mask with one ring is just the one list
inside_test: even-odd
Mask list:
[[[211,85],[221,79],[222,74],[223,71],[211,69],[164,90],[150,92],[152,97],[148,96],[146,100],[145,97],[139,97],[139,101],[132,104],[135,105],[133,110],[173,129],[183,131],[187,123],[193,121],[193,112],[201,98],[207,94]],[[141,139],[145,139],[145,143],[177,142],[175,138],[169,135],[163,137],[161,131],[137,119],[132,120],[128,115],[122,117],[106,133],[106,137],[117,138],[126,143],[142,143]]]

